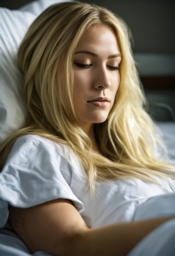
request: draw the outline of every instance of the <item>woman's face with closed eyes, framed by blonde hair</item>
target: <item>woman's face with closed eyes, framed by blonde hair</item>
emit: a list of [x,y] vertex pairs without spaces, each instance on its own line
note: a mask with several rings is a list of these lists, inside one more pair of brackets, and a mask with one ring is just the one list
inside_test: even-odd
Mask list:
[[120,61],[112,29],[98,24],[83,34],[74,55],[74,104],[81,126],[107,119],[120,83]]

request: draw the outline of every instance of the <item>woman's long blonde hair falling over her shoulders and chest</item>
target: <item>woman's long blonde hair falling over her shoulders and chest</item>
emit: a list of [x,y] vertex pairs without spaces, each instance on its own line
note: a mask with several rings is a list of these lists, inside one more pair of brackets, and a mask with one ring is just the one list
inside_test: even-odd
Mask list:
[[[94,124],[103,156],[92,152],[90,138],[74,124],[77,117],[72,96],[75,49],[82,34],[94,24],[106,24],[116,32],[122,55],[114,105],[105,122]],[[28,120],[24,128],[13,133],[1,146],[1,169],[15,140],[36,134],[64,143],[73,150],[92,191],[95,180],[139,178],[155,182],[153,175],[168,179],[173,167],[156,159],[157,143],[161,142],[144,110],[146,100],[129,38],[125,22],[96,5],[60,3],[37,17],[18,51]]]

